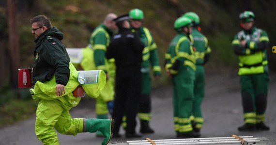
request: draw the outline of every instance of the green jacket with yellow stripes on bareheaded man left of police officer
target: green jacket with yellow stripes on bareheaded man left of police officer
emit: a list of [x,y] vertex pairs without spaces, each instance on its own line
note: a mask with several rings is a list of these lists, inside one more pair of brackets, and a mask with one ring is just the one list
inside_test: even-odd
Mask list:
[[96,69],[104,70],[106,73],[109,71],[108,63],[113,62],[113,60],[107,61],[105,58],[105,53],[112,35],[113,32],[111,30],[107,29],[104,24],[100,24],[93,30],[90,37]]

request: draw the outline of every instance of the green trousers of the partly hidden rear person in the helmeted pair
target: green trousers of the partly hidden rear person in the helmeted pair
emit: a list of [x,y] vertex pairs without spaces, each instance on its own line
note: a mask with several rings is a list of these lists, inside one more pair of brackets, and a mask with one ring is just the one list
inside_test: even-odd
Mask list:
[[193,110],[192,110],[193,120],[196,123],[197,129],[202,128],[203,121],[204,121],[201,113],[201,102],[204,97],[204,86],[205,86],[204,66],[197,65],[196,76],[195,76]]

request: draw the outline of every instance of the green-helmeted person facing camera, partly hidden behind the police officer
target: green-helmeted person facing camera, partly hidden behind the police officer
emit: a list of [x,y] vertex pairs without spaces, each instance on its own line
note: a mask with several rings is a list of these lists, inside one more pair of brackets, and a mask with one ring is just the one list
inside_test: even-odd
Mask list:
[[[150,127],[151,121],[151,75],[150,69],[153,70],[155,79],[161,75],[161,67],[157,52],[157,45],[149,29],[142,26],[144,13],[140,9],[132,9],[129,12],[131,30],[138,34],[141,42],[144,44],[143,62],[142,62],[142,94],[139,102],[138,117],[140,119],[140,132],[153,133]],[[124,125],[123,125],[124,126]]]

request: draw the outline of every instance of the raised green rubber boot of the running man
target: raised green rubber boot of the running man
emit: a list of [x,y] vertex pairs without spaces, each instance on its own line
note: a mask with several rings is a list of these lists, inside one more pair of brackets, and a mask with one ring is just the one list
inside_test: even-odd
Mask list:
[[102,132],[105,137],[102,145],[107,145],[112,137],[114,119],[85,119],[84,121],[86,122],[84,123],[84,126],[86,125],[84,132]]

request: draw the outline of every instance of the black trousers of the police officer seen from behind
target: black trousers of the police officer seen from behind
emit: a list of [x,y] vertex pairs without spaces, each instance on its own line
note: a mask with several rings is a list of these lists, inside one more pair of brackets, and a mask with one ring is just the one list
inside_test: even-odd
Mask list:
[[134,133],[138,103],[141,96],[141,73],[116,74],[116,97],[113,116],[115,119],[114,133],[118,133],[123,115],[126,116],[126,133]]

